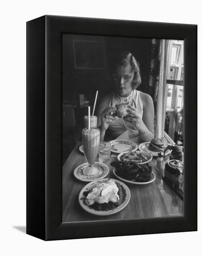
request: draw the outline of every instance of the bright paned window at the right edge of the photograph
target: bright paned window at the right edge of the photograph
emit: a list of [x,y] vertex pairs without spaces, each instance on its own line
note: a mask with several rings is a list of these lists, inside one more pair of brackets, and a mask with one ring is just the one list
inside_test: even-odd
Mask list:
[[183,145],[183,41],[170,40],[168,47],[167,103],[165,132],[175,141]]

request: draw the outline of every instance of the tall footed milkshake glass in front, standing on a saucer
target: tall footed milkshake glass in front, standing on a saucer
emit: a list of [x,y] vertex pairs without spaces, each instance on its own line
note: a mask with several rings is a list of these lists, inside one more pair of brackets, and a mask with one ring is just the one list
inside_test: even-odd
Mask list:
[[83,170],[84,175],[96,175],[99,170],[94,167],[100,145],[100,129],[82,129],[83,150],[88,162],[88,166]]

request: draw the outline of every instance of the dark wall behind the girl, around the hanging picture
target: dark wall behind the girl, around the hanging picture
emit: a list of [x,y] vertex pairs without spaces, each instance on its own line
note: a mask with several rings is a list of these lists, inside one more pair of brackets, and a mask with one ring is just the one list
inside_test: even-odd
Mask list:
[[[74,67],[73,40],[100,41],[104,46],[104,69],[78,69]],[[62,75],[63,101],[78,101],[79,94],[85,94],[91,104],[96,90],[98,101],[113,88],[110,62],[120,51],[130,51],[141,66],[142,83],[139,89],[148,92],[149,50],[151,39],[63,34],[62,37]],[[101,49],[102,50],[102,49]]]

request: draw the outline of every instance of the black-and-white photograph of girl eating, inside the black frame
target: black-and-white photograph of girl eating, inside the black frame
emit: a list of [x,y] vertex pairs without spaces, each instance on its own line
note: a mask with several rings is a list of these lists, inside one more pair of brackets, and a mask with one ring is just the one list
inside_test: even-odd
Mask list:
[[184,216],[183,40],[62,34],[62,221]]

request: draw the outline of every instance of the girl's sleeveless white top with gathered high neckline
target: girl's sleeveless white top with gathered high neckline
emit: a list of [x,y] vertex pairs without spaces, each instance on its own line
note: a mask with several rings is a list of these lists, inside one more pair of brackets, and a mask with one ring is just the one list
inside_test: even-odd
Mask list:
[[[135,107],[143,115],[143,103],[141,100],[140,92],[133,90],[128,97],[120,97],[118,94],[113,94],[108,106],[115,106],[118,103],[128,104]],[[124,121],[122,118],[118,118],[117,121],[111,123],[108,127],[111,135],[117,138],[119,135],[128,130],[129,140],[134,142],[141,142],[139,138],[139,131],[135,129],[132,123]]]

